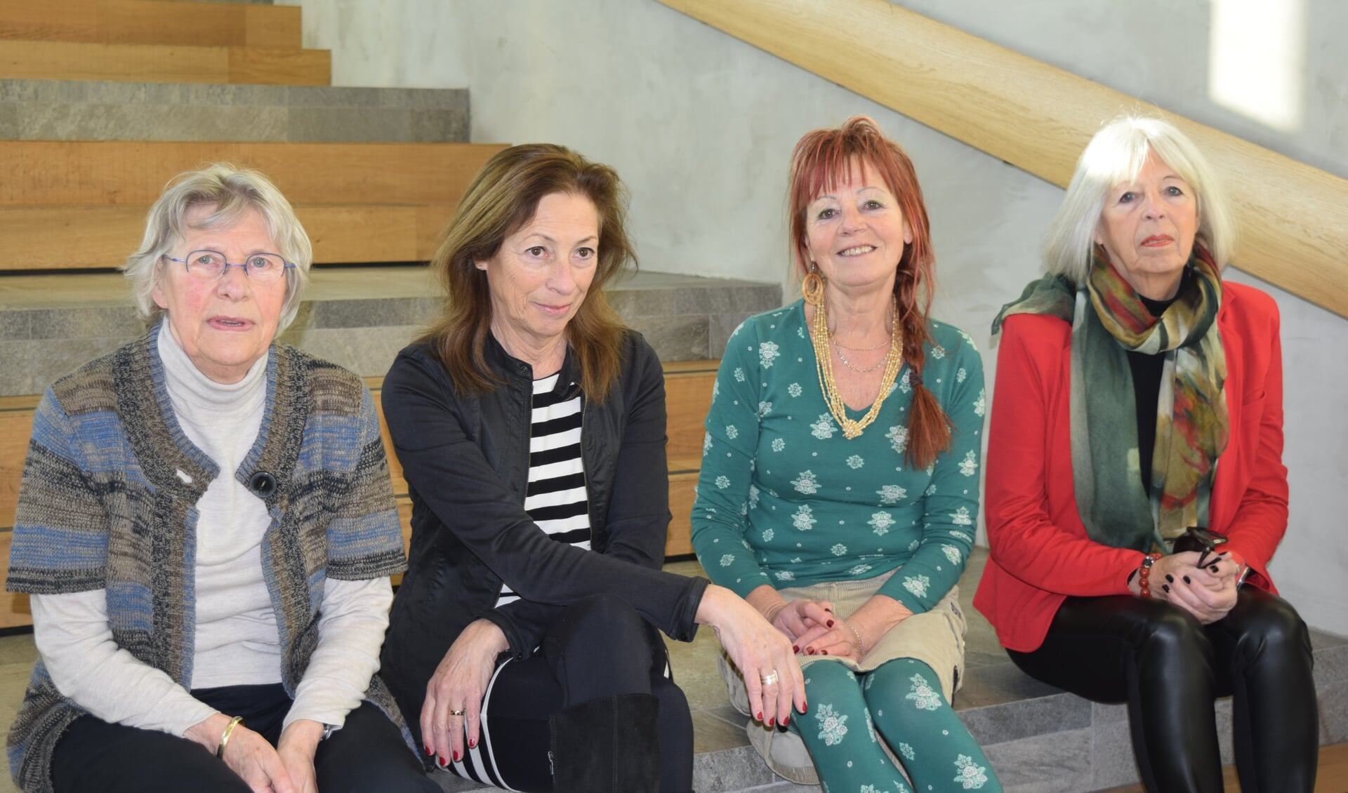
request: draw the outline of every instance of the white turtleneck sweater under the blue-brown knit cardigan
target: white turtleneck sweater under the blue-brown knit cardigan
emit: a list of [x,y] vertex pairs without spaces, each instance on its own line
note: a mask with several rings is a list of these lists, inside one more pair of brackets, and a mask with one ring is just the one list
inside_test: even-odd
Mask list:
[[[267,357],[239,382],[212,381],[160,326],[159,357],[183,435],[218,467],[197,501],[195,637],[190,688],[280,681],[276,614],[262,574],[267,505],[236,477],[257,440],[267,400]],[[341,726],[379,669],[388,626],[388,579],[324,587],[318,646],[286,715]],[[216,714],[163,672],[117,648],[104,590],[34,595],[34,641],[57,689],[112,723],[182,735]]]

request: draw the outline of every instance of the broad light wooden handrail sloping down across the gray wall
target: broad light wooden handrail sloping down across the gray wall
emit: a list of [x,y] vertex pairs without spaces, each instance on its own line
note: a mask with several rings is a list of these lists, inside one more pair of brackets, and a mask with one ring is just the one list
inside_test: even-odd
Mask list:
[[1223,175],[1240,228],[1231,264],[1348,316],[1345,179],[888,0],[659,3],[1060,187],[1103,123],[1163,117]]

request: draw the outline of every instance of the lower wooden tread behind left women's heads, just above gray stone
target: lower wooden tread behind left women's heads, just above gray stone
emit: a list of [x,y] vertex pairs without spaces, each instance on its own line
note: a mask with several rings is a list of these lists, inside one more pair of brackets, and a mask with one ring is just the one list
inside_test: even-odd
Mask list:
[[[0,206],[8,271],[108,268],[140,244],[148,205]],[[297,205],[314,261],[427,261],[454,203]],[[61,240],[53,245],[53,240]]]

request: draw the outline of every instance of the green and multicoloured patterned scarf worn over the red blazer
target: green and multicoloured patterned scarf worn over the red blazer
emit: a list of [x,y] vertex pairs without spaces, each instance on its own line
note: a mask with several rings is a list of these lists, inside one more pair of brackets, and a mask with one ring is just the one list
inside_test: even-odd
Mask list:
[[[1186,267],[1192,277],[1154,318],[1096,245],[1085,284],[1043,276],[992,322],[992,333],[1012,314],[1072,323],[1072,479],[1086,533],[1105,545],[1169,551],[1185,528],[1208,524],[1228,436],[1227,358],[1216,323],[1221,275],[1198,245]],[[1150,498],[1138,463],[1128,351],[1165,355]]]

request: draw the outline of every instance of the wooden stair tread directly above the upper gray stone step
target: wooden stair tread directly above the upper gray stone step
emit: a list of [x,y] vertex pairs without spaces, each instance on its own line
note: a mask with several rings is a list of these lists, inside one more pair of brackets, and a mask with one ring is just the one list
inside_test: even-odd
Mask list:
[[328,50],[0,40],[3,79],[330,85]]

